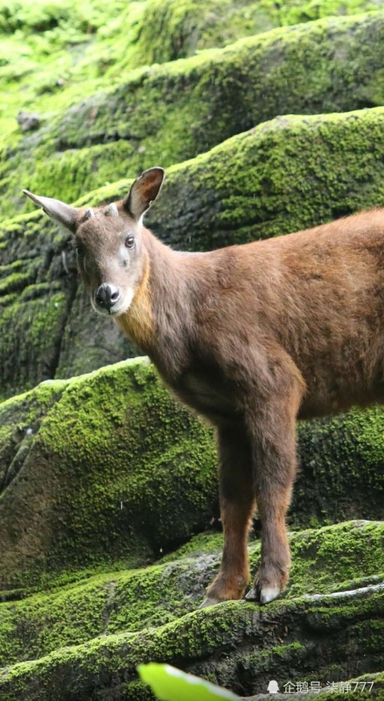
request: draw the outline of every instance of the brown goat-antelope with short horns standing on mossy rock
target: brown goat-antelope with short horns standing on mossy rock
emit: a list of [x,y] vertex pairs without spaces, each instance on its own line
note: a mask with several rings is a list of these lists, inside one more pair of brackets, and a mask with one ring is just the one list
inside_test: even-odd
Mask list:
[[93,308],[216,427],[224,553],[205,604],[244,594],[255,505],[261,564],[247,598],[266,603],[288,580],[296,418],[384,399],[384,209],[177,252],[142,225],[163,177],[146,170],[121,202],[95,211],[25,194],[74,233]]

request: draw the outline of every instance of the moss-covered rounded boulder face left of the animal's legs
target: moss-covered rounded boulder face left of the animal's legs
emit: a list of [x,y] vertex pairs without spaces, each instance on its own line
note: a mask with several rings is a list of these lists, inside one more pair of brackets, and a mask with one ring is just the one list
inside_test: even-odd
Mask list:
[[[15,421],[13,402],[0,411]],[[148,362],[69,381],[24,457],[0,500],[3,586],[46,569],[146,562],[211,515],[211,432]]]

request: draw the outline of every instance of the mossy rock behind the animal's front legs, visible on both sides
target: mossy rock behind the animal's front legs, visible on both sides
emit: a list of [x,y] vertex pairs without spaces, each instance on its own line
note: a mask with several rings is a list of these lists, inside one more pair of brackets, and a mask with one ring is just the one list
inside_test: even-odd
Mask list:
[[[145,564],[219,517],[211,428],[146,359],[0,404],[0,588]],[[380,517],[379,409],[304,424],[289,526]]]

